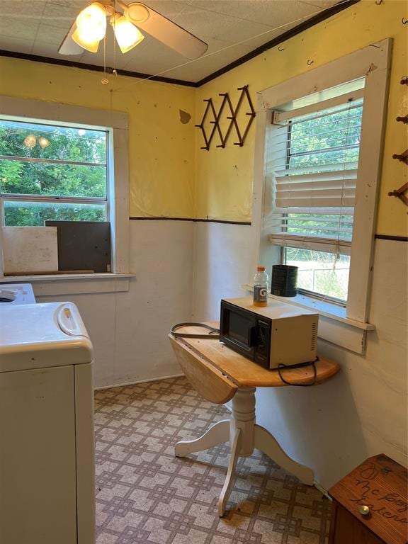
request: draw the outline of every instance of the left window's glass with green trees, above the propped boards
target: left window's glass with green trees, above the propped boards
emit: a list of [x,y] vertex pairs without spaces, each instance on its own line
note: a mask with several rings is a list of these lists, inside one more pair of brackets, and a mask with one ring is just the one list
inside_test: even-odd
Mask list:
[[6,226],[108,220],[108,132],[0,119]]

